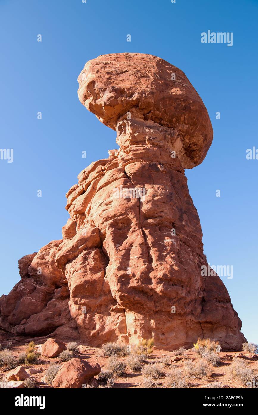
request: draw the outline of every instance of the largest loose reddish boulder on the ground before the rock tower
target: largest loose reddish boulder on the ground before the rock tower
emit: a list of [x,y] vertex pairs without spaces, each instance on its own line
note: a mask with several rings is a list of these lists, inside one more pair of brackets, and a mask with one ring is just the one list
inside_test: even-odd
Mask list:
[[75,357],[64,364],[52,381],[54,388],[81,388],[90,378],[98,375],[101,367],[95,362],[88,362]]

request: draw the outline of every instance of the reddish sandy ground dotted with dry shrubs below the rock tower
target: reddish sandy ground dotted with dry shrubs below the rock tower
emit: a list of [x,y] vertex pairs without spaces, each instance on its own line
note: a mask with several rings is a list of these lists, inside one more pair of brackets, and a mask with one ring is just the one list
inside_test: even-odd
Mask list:
[[[225,385],[227,388],[248,388],[254,387],[258,381],[254,343],[244,343],[242,352],[222,352],[219,342],[198,339],[193,349],[180,347],[164,354],[156,350],[153,339],[143,339],[132,347],[109,342],[101,349],[79,346],[76,342],[59,343],[51,343],[53,347],[61,347],[62,351],[56,357],[40,356],[38,351],[41,347],[34,342],[21,347],[13,344],[2,346],[0,388],[13,387],[13,382],[7,381],[6,376],[15,368],[18,370],[18,366],[33,370],[28,378],[20,381],[23,388],[55,387],[62,365],[72,359],[90,362],[91,357],[98,362],[100,369],[94,381],[86,383],[84,388],[127,385],[135,388],[223,388]],[[51,348],[44,353],[53,355]]]

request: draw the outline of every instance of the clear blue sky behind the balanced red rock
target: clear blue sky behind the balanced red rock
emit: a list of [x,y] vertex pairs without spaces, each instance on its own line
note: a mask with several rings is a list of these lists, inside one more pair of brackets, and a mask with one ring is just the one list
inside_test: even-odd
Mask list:
[[[117,148],[77,97],[84,64],[153,54],[182,69],[208,109],[213,144],[186,170],[190,195],[208,262],[233,265],[222,280],[242,332],[258,343],[258,160],[246,159],[258,149],[257,20],[257,0],[0,0],[0,148],[13,149],[12,163],[0,160],[0,295],[19,281],[19,258],[61,239],[78,173]],[[201,43],[208,30],[233,32],[233,46]]]

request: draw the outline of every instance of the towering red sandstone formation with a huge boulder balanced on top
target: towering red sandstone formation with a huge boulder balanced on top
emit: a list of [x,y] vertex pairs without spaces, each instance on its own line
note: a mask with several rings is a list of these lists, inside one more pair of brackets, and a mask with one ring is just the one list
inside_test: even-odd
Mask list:
[[116,129],[120,148],[68,191],[63,239],[19,261],[0,326],[92,346],[154,337],[174,349],[210,337],[240,349],[227,289],[201,276],[208,264],[184,175],[213,139],[201,98],[182,71],[145,54],[99,56],[78,81],[81,103]]

